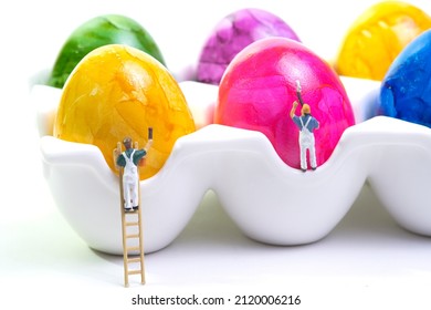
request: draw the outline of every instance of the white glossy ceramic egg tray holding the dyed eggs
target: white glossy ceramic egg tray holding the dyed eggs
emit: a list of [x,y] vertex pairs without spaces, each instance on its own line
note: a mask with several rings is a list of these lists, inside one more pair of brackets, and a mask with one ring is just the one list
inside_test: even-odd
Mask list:
[[[208,124],[177,141],[162,169],[140,182],[145,251],[168,246],[212,189],[250,238],[302,245],[327,236],[369,183],[395,220],[431,236],[431,130],[375,115],[379,83],[341,78],[357,125],[315,172],[285,165],[259,132]],[[217,87],[180,82],[193,115]],[[123,254],[118,177],[96,146],[52,136],[61,91],[35,85],[44,176],[61,213],[94,249]],[[114,148],[115,146],[113,146]]]

